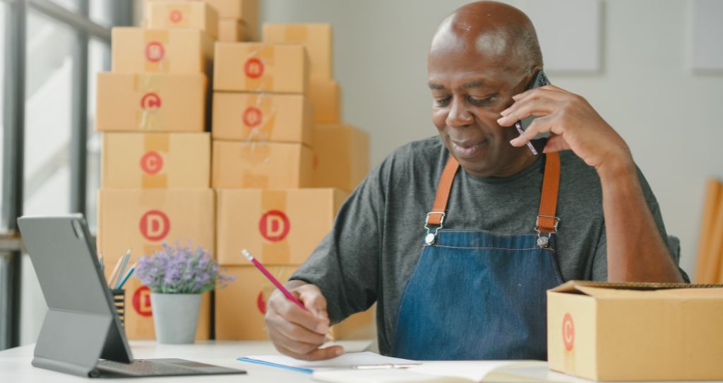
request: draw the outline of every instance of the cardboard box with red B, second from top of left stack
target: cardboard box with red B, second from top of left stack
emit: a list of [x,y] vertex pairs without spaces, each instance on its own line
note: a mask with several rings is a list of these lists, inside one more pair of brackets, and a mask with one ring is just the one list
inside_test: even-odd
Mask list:
[[194,28],[114,27],[111,64],[116,73],[204,73],[213,38]]

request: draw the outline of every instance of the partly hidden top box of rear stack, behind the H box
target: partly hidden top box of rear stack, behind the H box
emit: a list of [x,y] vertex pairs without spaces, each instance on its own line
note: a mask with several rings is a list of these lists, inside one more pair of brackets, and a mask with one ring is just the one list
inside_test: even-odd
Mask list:
[[330,24],[271,24],[263,25],[264,43],[301,43],[307,48],[311,76],[333,79],[332,40]]

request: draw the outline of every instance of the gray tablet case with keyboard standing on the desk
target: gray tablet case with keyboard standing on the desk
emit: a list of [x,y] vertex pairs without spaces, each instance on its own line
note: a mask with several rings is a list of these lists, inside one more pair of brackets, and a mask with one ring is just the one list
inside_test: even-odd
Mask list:
[[[136,365],[166,362],[165,373],[155,371],[134,376],[245,373],[180,359],[134,361],[106,278],[100,271],[95,246],[90,242],[85,218],[82,215],[22,217],[17,223],[48,304],[48,314],[35,345],[33,366],[97,377],[108,368],[100,366],[98,359],[102,358],[121,363],[146,362]],[[181,367],[168,371],[168,362],[197,366],[190,368],[194,371],[188,371],[189,368],[178,371]]]

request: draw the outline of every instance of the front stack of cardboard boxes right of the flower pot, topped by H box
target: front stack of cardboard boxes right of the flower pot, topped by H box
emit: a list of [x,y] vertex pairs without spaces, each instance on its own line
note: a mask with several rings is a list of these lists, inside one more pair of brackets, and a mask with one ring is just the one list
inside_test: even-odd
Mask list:
[[[330,39],[321,35],[322,40]],[[330,57],[330,44],[321,43]],[[217,254],[236,282],[216,293],[217,339],[266,339],[273,285],[244,257],[249,249],[279,280],[330,231],[348,188],[314,186],[314,111],[307,98],[317,64],[299,43],[217,43],[213,171]],[[330,62],[324,71],[330,71]],[[341,128],[340,128],[341,129]],[[322,139],[323,142],[323,139]],[[339,160],[344,161],[343,158]],[[336,337],[371,337],[373,312],[333,327]]]

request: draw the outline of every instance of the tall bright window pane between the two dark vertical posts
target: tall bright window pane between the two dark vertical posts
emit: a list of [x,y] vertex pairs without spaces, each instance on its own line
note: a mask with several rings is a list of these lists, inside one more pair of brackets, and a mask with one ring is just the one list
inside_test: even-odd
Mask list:
[[27,15],[24,213],[70,212],[73,31],[33,12]]

